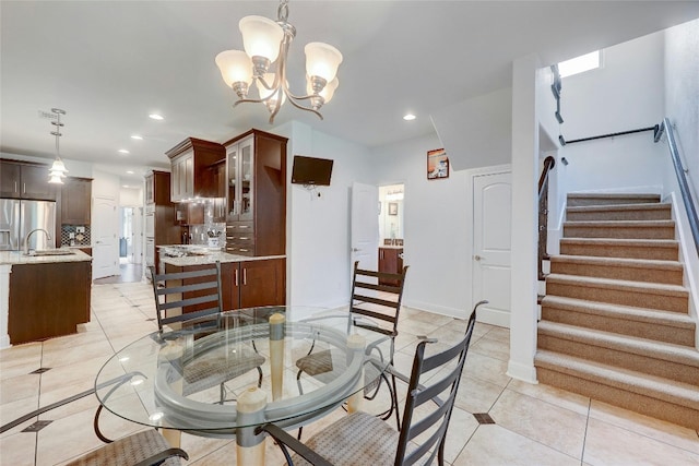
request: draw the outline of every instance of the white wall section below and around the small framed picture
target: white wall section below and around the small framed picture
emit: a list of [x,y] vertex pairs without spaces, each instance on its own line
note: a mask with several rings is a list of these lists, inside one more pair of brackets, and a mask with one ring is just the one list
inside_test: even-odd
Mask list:
[[[427,179],[427,151],[439,148],[436,134],[376,151],[379,184],[404,183],[404,259],[408,265],[403,302],[466,318],[472,237],[469,227],[467,171],[451,167],[449,178]],[[487,154],[478,154],[487,155]]]

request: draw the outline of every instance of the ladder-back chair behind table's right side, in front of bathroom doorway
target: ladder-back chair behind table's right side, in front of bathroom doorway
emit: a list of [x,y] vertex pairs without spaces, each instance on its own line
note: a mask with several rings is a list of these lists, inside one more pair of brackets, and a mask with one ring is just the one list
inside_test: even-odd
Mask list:
[[[352,297],[350,301],[352,321],[350,325],[378,332],[391,339],[391,350],[389,355],[372,355],[378,357],[383,363],[388,362],[393,365],[395,337],[398,336],[398,319],[401,311],[406,273],[407,266],[404,266],[400,273],[393,274],[367,271],[359,268],[358,261],[354,263]],[[316,342],[313,340],[308,355],[296,361],[296,367],[298,368],[296,381],[300,393],[303,393],[300,380],[303,373],[322,380],[323,374],[332,373],[333,363],[343,362],[342,358],[344,358],[344,356],[340,358],[339,361],[333,362],[330,350],[313,353],[315,346]],[[335,370],[337,368],[335,368]],[[395,410],[395,419],[398,428],[400,429],[401,419],[398,411],[395,377],[392,375],[391,382],[389,382],[388,377],[381,373],[381,370],[371,362],[365,365],[365,371],[366,379],[375,381],[365,387],[365,398],[374,399],[381,387],[381,383],[386,382],[391,396],[391,406],[386,411],[379,414],[379,416],[386,420],[390,418],[393,410]],[[299,439],[300,434],[301,431],[299,430]]]

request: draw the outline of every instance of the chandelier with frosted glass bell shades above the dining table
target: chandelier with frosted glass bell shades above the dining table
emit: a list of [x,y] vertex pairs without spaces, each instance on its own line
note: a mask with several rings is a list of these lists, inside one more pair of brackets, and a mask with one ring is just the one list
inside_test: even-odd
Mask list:
[[[276,22],[263,16],[245,16],[238,27],[242,35],[241,50],[225,50],[216,56],[216,65],[226,85],[238,95],[234,107],[242,103],[264,104],[270,111],[270,123],[285,100],[301,110],[316,113],[329,103],[337,88],[337,67],[342,53],[323,43],[307,44],[306,95],[297,96],[288,88],[286,60],[296,28],[287,22],[288,0],[281,0],[276,10]],[[270,70],[272,63],[275,69]],[[248,91],[254,84],[259,98],[248,98]],[[303,105],[308,100],[308,105]]]

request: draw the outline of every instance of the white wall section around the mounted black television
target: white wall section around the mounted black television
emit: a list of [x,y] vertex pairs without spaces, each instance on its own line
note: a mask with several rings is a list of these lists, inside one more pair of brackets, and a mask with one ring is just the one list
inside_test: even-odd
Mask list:
[[[357,144],[294,121],[271,130],[289,138],[287,167],[287,302],[342,307],[350,302],[350,201],[353,181],[376,184],[371,154]],[[334,160],[329,187],[291,184],[294,155]],[[320,196],[318,196],[320,194]]]

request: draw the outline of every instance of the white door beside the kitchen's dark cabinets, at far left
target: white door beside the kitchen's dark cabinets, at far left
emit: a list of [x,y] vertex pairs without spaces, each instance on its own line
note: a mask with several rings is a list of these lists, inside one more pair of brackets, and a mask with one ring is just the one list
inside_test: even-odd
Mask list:
[[119,214],[114,199],[95,198],[93,206],[92,277],[119,274]]

